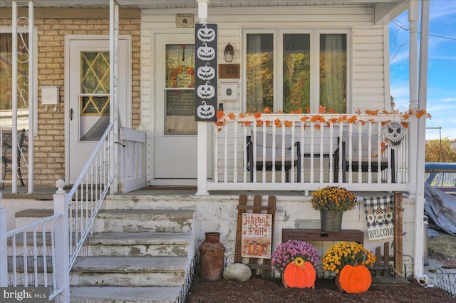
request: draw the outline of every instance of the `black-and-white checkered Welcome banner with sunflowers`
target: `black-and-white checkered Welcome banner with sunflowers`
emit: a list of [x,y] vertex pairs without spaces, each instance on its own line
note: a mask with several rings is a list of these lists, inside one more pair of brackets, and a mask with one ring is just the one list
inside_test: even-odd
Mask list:
[[394,237],[393,196],[368,197],[364,201],[369,240]]

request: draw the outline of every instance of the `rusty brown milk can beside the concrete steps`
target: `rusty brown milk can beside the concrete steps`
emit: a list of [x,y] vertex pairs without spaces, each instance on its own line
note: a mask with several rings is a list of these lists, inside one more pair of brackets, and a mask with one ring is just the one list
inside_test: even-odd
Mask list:
[[199,247],[199,277],[207,280],[221,279],[225,247],[220,243],[220,232],[206,232],[205,235],[206,239]]

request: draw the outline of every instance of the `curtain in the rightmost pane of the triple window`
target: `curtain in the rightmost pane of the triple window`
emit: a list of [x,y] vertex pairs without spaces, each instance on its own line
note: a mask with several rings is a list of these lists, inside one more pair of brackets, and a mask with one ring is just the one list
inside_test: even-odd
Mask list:
[[320,36],[320,104],[346,113],[346,34]]

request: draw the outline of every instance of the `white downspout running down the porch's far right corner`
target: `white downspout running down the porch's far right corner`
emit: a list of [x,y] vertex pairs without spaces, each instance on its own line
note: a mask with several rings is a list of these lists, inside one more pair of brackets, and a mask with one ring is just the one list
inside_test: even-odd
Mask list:
[[[429,1],[421,1],[420,31],[420,78],[418,82],[418,110],[427,107],[427,49],[429,40]],[[425,141],[426,119],[418,118],[417,123],[417,162],[416,162],[416,197],[415,197],[415,266],[414,277],[422,285],[427,284],[427,276],[423,274],[423,215],[425,187]]]

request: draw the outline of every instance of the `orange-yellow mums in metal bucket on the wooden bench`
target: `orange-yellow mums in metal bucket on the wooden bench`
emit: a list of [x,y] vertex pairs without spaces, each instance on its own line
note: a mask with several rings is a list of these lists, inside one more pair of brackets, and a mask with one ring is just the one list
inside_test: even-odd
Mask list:
[[324,232],[340,232],[343,212],[353,210],[358,204],[352,192],[339,186],[326,186],[311,195],[312,207],[320,211],[321,230]]

